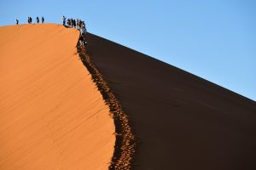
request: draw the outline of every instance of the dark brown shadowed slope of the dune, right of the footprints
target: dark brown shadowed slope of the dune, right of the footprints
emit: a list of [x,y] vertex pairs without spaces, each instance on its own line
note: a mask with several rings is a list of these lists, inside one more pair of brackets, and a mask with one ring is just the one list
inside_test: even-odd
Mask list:
[[253,100],[101,37],[87,38],[88,54],[137,137],[134,169],[256,169]]

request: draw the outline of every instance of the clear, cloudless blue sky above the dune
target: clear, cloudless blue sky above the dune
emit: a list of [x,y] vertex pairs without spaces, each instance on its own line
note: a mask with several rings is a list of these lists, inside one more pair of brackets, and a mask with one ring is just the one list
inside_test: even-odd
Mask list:
[[98,36],[256,100],[255,0],[0,1],[0,26],[43,15],[61,24],[63,14],[85,20]]

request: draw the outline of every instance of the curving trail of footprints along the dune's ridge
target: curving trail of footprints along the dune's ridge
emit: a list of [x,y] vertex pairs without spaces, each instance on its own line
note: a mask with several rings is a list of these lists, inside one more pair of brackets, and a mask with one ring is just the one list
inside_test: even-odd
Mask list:
[[136,149],[136,139],[131,131],[128,116],[123,111],[113,91],[108,87],[108,83],[104,80],[102,74],[96,69],[84,46],[78,42],[77,48],[84,66],[90,72],[93,81],[96,82],[96,86],[113,116],[116,141],[109,169],[131,169],[132,158]]

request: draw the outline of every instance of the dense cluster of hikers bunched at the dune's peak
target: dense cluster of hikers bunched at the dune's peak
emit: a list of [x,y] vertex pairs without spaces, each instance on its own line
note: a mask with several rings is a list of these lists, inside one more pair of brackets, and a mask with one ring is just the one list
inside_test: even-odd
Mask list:
[[70,28],[76,28],[80,31],[80,37],[79,42],[81,42],[82,45],[87,45],[87,42],[85,40],[85,35],[87,33],[84,20],[75,20],[73,18],[67,19],[64,15],[62,16],[62,25],[66,26],[66,20],[67,20],[67,27]]

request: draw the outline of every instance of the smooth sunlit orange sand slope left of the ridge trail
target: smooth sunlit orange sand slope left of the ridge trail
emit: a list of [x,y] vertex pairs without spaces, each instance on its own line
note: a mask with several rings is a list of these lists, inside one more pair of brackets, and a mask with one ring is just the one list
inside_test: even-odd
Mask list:
[[0,27],[0,169],[108,169],[108,106],[77,54],[79,31]]

